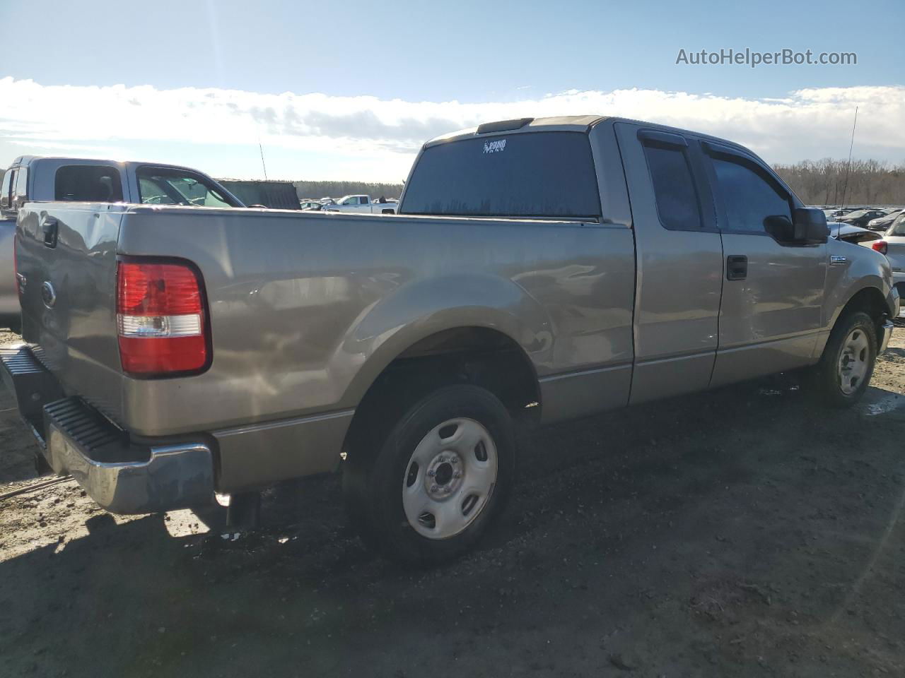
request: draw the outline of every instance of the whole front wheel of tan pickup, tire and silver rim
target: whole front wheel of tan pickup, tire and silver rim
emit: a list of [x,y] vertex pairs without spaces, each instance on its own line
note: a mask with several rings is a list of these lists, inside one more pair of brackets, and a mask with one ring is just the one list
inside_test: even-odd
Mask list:
[[877,360],[877,329],[861,311],[839,318],[814,368],[817,395],[832,407],[849,407],[861,400]]

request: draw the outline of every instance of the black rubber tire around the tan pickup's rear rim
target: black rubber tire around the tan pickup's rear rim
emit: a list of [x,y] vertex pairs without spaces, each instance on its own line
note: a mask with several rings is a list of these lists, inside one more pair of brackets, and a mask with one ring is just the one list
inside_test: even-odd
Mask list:
[[[415,447],[449,419],[473,419],[496,448],[496,480],[480,513],[443,539],[416,532],[405,516],[403,483]],[[379,429],[372,427],[379,436]],[[470,384],[445,386],[405,411],[381,439],[357,436],[343,469],[343,494],[350,522],[363,540],[386,558],[409,566],[452,560],[470,550],[502,512],[515,474],[515,442],[510,414],[490,391]],[[438,476],[439,477],[439,474]]]

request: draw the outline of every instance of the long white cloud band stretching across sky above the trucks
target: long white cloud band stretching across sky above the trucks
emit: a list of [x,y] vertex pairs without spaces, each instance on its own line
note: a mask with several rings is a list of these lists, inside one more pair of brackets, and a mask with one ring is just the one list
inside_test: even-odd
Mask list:
[[[570,89],[515,102],[404,101],[236,89],[43,86],[0,79],[0,164],[13,155],[148,157],[216,175],[258,176],[260,137],[271,177],[399,180],[425,139],[501,118],[600,113],[687,127],[751,147],[768,162],[848,152],[905,160],[905,87],[799,89],[781,98]],[[52,150],[49,150],[52,149]],[[237,150],[237,149],[242,149]],[[7,156],[5,156],[7,155]],[[174,156],[175,155],[175,156]]]

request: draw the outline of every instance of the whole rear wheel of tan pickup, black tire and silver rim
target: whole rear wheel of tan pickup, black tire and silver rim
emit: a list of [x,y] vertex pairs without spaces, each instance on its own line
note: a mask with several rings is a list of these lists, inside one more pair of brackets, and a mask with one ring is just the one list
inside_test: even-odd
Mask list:
[[392,560],[450,560],[472,548],[505,504],[514,470],[512,424],[490,391],[444,387],[407,410],[376,454],[363,448],[364,440],[344,469],[348,514]]

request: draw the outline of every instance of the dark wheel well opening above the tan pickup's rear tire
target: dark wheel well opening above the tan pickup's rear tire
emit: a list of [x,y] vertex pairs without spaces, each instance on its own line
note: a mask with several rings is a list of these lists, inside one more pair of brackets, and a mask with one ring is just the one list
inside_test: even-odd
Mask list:
[[415,401],[456,383],[491,391],[512,414],[540,417],[538,377],[519,344],[486,327],[458,327],[425,337],[384,368],[356,408],[344,451],[374,449]]

